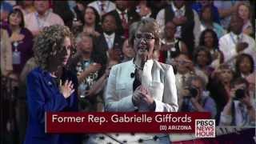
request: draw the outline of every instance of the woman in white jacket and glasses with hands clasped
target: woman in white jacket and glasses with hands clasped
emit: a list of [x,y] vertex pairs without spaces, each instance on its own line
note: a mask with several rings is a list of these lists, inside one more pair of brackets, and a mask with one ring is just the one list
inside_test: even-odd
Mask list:
[[106,111],[178,110],[173,67],[152,58],[160,47],[160,29],[153,18],[145,18],[130,27],[133,60],[113,66],[105,94]]

